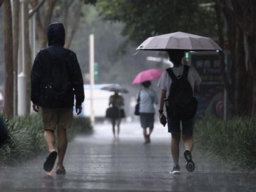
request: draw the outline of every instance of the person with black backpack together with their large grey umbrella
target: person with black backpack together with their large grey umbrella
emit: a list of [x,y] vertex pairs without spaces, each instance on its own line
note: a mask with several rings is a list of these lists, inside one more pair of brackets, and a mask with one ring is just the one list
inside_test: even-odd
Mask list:
[[[179,101],[180,99],[188,98],[190,97],[188,101],[193,101],[195,99],[191,99],[191,95],[194,94],[194,92],[199,92],[199,84],[201,82],[201,78],[199,77],[199,74],[197,73],[196,69],[191,67],[185,67],[182,65],[182,58],[184,56],[184,50],[186,51],[222,51],[221,47],[213,41],[211,38],[203,37],[195,34],[187,34],[184,32],[174,32],[171,34],[163,34],[163,35],[157,35],[153,37],[149,37],[146,40],[141,43],[138,48],[136,49],[138,53],[139,50],[144,51],[167,51],[169,54],[169,60],[174,64],[172,68],[168,68],[168,72],[165,71],[162,76],[160,77],[160,80],[158,82],[158,87],[162,88],[161,96],[160,96],[160,109],[159,109],[159,118],[160,123],[162,123],[164,126],[166,124],[166,118],[163,115],[163,106],[166,105],[168,109],[171,108],[171,110],[167,110],[167,112],[171,111],[171,114],[174,115],[174,113],[177,113],[180,108],[177,107],[171,107],[171,104],[174,104],[175,101]],[[135,55],[133,54],[133,55]],[[185,70],[183,70],[185,69]],[[170,74],[170,76],[169,76]],[[172,76],[172,77],[171,77]],[[175,77],[174,77],[175,76]],[[179,99],[169,99],[168,102],[165,102],[164,99],[166,96],[169,96],[171,85],[177,85],[172,84],[172,79],[176,82],[181,82],[177,79],[182,79],[182,82],[185,82],[186,84],[186,90],[189,90],[188,92],[191,94],[182,94]],[[187,78],[185,78],[187,77]],[[191,86],[190,86],[190,85]],[[172,86],[173,88],[174,86]],[[176,90],[179,90],[179,86],[176,87]],[[183,90],[180,89],[180,90]],[[174,91],[171,91],[172,96]],[[186,101],[187,102],[187,101]],[[179,102],[177,102],[179,104]],[[191,115],[194,115],[194,109],[197,108],[196,105],[186,105],[187,108],[190,108],[190,110],[187,110],[186,107],[183,105],[183,111],[185,111],[186,117]],[[190,115],[188,115],[189,113]],[[172,139],[171,139],[171,153],[172,158],[174,160],[174,168],[170,172],[171,174],[180,174],[180,167],[179,167],[179,141],[180,141],[180,123],[182,123],[182,138],[185,145],[185,151],[184,151],[184,157],[187,161],[186,168],[188,171],[192,172],[194,171],[194,162],[192,160],[191,151],[193,149],[193,124],[194,119],[193,117],[187,120],[182,119],[173,119],[169,117],[169,114],[167,116],[168,120],[168,132],[171,132]]]

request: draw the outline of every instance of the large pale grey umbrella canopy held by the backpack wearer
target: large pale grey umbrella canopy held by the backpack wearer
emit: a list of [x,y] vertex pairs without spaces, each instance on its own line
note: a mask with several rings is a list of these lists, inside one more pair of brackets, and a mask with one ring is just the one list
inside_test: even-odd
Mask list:
[[166,49],[183,49],[187,51],[222,50],[211,38],[183,32],[149,37],[136,50],[166,51]]

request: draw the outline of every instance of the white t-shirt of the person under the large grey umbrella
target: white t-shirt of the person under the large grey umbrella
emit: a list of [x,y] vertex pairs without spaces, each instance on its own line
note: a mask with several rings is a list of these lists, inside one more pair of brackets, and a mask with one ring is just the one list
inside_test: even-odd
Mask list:
[[[172,67],[172,71],[177,76],[182,76],[184,69],[184,65],[178,66],[178,67]],[[190,69],[188,70],[188,82],[190,82],[190,85],[194,91],[194,86],[199,85],[202,81],[199,74],[197,73],[196,69],[193,66],[190,66]],[[169,95],[169,90],[171,86],[172,80],[167,71],[163,71],[162,76],[159,79],[159,82],[157,84],[157,87],[162,88],[162,90],[167,91],[167,96]]]

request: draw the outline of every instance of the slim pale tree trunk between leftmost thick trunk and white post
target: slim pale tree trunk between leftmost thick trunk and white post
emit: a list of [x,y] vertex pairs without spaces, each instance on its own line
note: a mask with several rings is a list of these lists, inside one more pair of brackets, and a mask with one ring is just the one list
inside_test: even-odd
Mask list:
[[14,115],[17,114],[17,109],[18,109],[18,81],[17,81],[17,76],[18,76],[18,50],[19,50],[19,32],[20,32],[20,1],[13,1],[13,13],[12,13],[12,18],[13,18],[13,71],[15,72],[15,93],[14,93],[14,98],[13,100],[16,103],[16,107],[13,110]]

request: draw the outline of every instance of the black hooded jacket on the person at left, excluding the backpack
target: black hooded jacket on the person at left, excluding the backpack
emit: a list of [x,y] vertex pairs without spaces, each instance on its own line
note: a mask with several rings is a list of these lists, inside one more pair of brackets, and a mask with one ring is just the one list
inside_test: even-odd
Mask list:
[[[53,23],[48,26],[47,30],[48,48],[46,48],[51,57],[60,58],[65,48],[65,29],[62,23]],[[82,73],[77,61],[76,54],[69,50],[66,56],[67,63],[70,65],[69,71],[72,90],[68,90],[63,99],[59,99],[54,103],[46,101],[45,85],[43,79],[43,68],[46,65],[46,55],[41,50],[35,57],[35,61],[31,72],[31,101],[43,108],[67,108],[74,106],[74,98],[76,105],[81,105],[84,102],[84,82]]]

